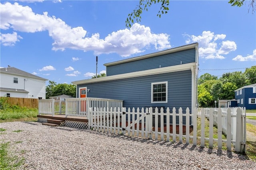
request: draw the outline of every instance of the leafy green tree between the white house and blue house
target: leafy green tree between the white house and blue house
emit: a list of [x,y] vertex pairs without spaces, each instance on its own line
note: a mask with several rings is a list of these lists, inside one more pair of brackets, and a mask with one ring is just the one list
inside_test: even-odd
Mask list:
[[46,86],[46,99],[52,96],[66,94],[68,96],[76,97],[76,85],[74,84],[56,84],[56,82],[49,80],[49,85]]

